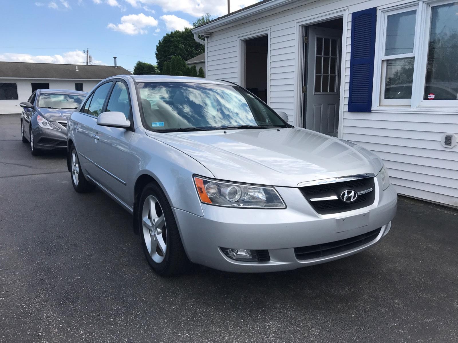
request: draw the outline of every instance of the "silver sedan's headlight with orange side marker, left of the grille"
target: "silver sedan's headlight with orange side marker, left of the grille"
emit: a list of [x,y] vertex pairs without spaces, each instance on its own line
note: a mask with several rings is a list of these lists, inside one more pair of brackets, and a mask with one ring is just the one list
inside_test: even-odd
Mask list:
[[221,182],[194,177],[201,202],[209,205],[284,209],[282,198],[273,187]]

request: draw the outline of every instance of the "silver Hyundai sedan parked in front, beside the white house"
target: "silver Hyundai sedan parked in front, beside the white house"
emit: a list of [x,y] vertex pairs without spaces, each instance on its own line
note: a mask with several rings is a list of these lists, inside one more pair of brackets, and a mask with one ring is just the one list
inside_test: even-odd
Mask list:
[[95,185],[133,214],[159,274],[189,262],[271,272],[332,261],[379,242],[397,193],[382,160],[294,128],[235,84],[120,75],[68,121],[76,192]]

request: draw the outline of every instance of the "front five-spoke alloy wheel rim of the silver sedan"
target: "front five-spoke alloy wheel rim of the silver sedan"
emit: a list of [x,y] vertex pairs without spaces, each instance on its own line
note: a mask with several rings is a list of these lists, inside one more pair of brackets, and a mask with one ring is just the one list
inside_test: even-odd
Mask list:
[[167,252],[167,226],[162,207],[153,195],[143,203],[142,227],[149,255],[154,262],[161,263]]

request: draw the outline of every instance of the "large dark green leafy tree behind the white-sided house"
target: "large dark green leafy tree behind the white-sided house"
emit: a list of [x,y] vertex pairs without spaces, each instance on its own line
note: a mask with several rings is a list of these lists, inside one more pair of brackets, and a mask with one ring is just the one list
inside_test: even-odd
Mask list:
[[184,61],[204,52],[204,46],[194,40],[191,29],[176,30],[166,33],[156,45],[158,69],[164,74],[164,62],[171,61],[172,56],[180,56]]

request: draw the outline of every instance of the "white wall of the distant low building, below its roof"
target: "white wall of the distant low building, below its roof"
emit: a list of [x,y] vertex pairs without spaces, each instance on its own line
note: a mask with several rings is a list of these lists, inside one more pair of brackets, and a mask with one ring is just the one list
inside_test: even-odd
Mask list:
[[18,100],[0,100],[0,114],[21,113],[20,102],[27,101],[32,94],[32,83],[49,83],[49,89],[75,90],[75,83],[83,84],[83,91],[89,92],[99,82],[98,80],[58,80],[58,79],[0,79],[0,82],[15,82]]

